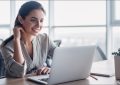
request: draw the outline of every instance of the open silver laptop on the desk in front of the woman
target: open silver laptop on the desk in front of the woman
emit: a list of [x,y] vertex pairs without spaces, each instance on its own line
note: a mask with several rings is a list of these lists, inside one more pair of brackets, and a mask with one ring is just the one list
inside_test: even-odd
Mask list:
[[95,45],[57,47],[53,54],[50,74],[27,79],[48,85],[86,79],[90,75],[95,48]]

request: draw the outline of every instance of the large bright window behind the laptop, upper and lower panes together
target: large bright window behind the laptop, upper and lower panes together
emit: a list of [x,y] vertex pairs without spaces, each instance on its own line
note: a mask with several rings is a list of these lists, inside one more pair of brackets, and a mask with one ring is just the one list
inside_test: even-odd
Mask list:
[[56,0],[54,27],[61,46],[98,44],[106,54],[106,0]]

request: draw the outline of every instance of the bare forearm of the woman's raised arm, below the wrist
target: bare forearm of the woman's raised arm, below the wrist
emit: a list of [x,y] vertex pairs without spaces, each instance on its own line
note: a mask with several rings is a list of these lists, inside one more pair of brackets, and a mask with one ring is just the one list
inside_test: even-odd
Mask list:
[[25,61],[23,54],[22,54],[20,40],[18,40],[18,39],[14,39],[14,56],[13,56],[13,58],[19,64],[23,64]]

